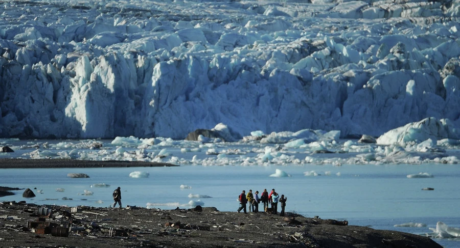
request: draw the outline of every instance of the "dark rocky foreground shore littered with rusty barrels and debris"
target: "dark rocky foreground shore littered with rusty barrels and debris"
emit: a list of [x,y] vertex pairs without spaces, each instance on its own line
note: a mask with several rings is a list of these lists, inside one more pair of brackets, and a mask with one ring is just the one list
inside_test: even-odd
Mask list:
[[2,247],[442,247],[430,238],[294,213],[0,203]]

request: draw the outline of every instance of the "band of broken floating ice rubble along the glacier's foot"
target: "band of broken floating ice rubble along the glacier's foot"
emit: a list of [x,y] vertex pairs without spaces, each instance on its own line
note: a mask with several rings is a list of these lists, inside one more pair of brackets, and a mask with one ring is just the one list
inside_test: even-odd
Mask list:
[[[173,164],[262,165],[268,164],[381,164],[381,163],[458,163],[457,129],[446,122],[427,118],[392,129],[376,140],[377,143],[361,143],[357,140],[339,139],[340,131],[303,129],[296,132],[271,132],[266,135],[252,132],[255,137],[244,137],[237,142],[203,143],[200,141],[173,140],[170,137],[152,139],[134,136],[116,137],[112,141],[94,140],[44,144],[30,142],[27,146],[14,147],[36,149],[22,154],[24,158],[74,158],[87,160],[126,160],[168,162]],[[424,140],[427,139],[427,140]],[[271,141],[273,143],[267,143]],[[3,144],[19,142],[5,140]],[[54,154],[54,156],[50,156]]]

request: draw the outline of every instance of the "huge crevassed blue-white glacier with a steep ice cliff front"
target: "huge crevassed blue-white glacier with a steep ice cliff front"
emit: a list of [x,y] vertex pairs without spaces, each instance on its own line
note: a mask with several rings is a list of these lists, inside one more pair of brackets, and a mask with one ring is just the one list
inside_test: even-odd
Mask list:
[[[459,138],[456,1],[2,7],[0,137],[152,143],[219,123],[238,137],[305,129],[380,136],[433,118],[453,130],[442,139]],[[404,136],[379,142],[407,145]]]

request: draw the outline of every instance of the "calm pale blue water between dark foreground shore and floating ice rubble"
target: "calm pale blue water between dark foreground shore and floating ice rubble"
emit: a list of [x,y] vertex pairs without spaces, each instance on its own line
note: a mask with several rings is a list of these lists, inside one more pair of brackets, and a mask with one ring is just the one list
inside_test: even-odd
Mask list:
[[[280,169],[290,177],[270,177]],[[134,171],[148,177],[132,178]],[[305,176],[315,171],[320,176]],[[427,172],[433,178],[412,178],[408,174]],[[436,222],[460,227],[458,186],[460,172],[456,165],[384,165],[363,166],[181,166],[162,168],[97,169],[3,169],[2,186],[36,188],[27,202],[56,205],[107,207],[111,192],[122,188],[122,204],[162,209],[190,208],[190,201],[202,202],[221,211],[236,211],[241,190],[260,192],[275,188],[287,196],[287,211],[313,217],[347,219],[350,225],[371,226],[416,234],[430,233]],[[69,178],[68,173],[85,173],[89,178]],[[337,173],[340,173],[338,176]],[[105,183],[109,187],[91,187]],[[181,189],[180,185],[191,188]],[[434,190],[422,190],[432,187]],[[56,191],[63,188],[63,192]],[[42,190],[42,194],[37,192]],[[92,195],[83,195],[84,190]],[[2,201],[20,201],[22,190]],[[211,198],[189,198],[189,194]],[[62,200],[63,198],[72,200]],[[393,227],[408,222],[424,223],[424,228]],[[445,247],[457,247],[458,241],[435,239]]]

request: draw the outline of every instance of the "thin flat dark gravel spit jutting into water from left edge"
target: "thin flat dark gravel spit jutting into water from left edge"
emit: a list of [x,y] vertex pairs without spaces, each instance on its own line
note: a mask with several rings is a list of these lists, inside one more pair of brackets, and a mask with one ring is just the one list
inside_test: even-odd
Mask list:
[[121,160],[77,160],[77,159],[24,159],[0,158],[0,169],[52,169],[52,168],[116,168],[116,167],[175,167],[172,163],[121,161]]

